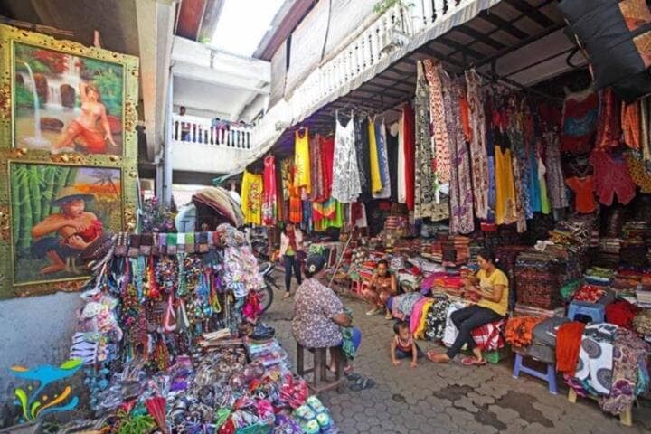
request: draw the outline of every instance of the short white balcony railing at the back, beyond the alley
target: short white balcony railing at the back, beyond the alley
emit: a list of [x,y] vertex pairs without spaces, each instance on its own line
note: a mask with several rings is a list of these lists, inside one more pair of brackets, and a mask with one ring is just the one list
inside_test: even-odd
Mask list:
[[212,125],[212,119],[189,115],[172,116],[172,139],[201,145],[250,149],[252,129],[237,124]]

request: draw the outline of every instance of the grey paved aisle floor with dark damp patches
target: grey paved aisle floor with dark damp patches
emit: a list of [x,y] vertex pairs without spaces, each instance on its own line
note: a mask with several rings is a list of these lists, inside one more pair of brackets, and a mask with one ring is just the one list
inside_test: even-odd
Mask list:
[[[277,276],[282,281],[282,276]],[[370,376],[375,387],[363,392],[327,392],[322,398],[343,434],[356,433],[613,433],[648,432],[651,407],[647,401],[634,409],[634,427],[601,410],[597,402],[567,401],[567,388],[551,395],[542,382],[511,377],[513,362],[479,368],[460,363],[435,365],[421,359],[393,367],[389,359],[392,321],[381,315],[365,316],[365,303],[344,297],[362,329],[356,372]],[[291,335],[292,299],[277,292],[263,321],[276,327],[276,335],[296,363],[296,342]],[[436,345],[419,341],[423,350]]]

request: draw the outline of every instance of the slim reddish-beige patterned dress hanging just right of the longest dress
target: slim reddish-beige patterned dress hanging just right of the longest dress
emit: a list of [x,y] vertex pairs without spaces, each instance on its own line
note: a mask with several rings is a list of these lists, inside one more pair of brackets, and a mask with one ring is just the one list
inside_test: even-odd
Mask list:
[[478,219],[488,218],[488,155],[486,152],[486,115],[481,96],[481,77],[475,70],[466,71],[467,105],[470,116],[470,156],[472,157],[472,182],[475,197],[475,214]]

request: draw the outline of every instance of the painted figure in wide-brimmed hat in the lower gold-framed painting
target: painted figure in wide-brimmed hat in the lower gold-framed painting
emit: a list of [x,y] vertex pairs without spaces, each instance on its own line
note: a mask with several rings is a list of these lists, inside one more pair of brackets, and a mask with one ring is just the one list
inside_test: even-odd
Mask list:
[[[74,187],[63,187],[52,201],[60,212],[45,217],[32,228],[34,258],[50,259],[51,264],[41,274],[75,271],[74,259],[102,233],[102,223],[92,212],[86,212],[86,203],[95,198],[80,193]],[[52,234],[52,235],[51,235]],[[66,262],[70,263],[66,263]],[[69,269],[70,266],[72,269]]]

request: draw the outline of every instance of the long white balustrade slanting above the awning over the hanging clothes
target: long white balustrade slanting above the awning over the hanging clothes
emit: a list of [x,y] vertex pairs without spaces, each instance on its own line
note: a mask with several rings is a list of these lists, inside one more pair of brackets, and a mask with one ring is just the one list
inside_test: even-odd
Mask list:
[[[417,48],[414,44],[427,42],[498,2],[499,0],[404,2],[409,6],[397,2],[342,49],[329,53],[321,65],[292,90],[290,98],[281,99],[269,109],[255,130],[254,145],[251,147],[258,149],[262,144],[269,144],[278,138],[284,128],[300,122],[328,100],[334,99],[337,93],[359,86],[360,80],[365,80],[363,74],[378,64],[383,62],[388,66],[392,57]],[[401,51],[404,53],[397,53]],[[260,152],[266,152],[266,149],[260,148],[259,152],[253,150],[251,157],[259,156]]]

